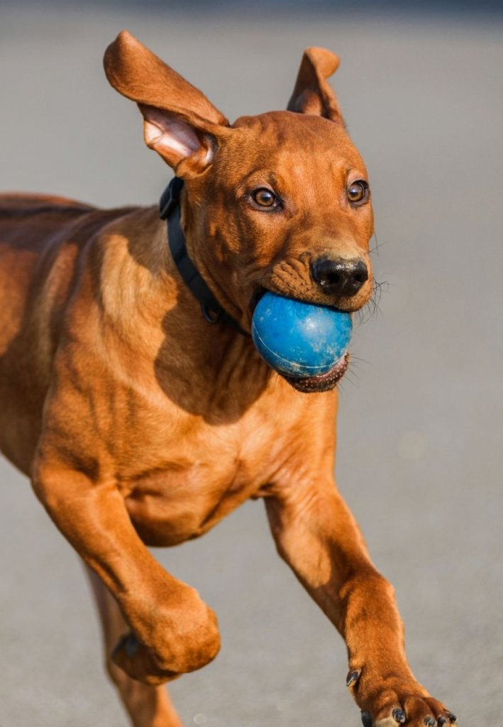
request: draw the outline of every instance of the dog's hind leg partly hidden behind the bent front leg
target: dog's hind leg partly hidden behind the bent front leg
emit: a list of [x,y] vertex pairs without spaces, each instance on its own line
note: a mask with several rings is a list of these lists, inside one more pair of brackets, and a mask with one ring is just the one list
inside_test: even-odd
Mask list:
[[117,601],[96,574],[86,568],[102,625],[105,666],[134,727],[182,727],[166,686],[150,686],[129,677],[110,658],[122,635],[130,631]]

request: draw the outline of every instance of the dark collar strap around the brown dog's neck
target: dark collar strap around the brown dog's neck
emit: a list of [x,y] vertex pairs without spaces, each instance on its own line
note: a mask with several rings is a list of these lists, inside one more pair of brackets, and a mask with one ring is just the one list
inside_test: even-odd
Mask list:
[[173,177],[166,187],[159,202],[159,217],[167,220],[168,223],[168,244],[169,249],[177,266],[180,276],[193,296],[201,303],[201,311],[208,323],[223,323],[235,329],[244,336],[249,334],[244,331],[220,303],[206,285],[206,282],[198,272],[196,265],[190,260],[185,245],[185,236],[182,225],[180,225],[180,192],[183,188],[183,180],[180,177]]

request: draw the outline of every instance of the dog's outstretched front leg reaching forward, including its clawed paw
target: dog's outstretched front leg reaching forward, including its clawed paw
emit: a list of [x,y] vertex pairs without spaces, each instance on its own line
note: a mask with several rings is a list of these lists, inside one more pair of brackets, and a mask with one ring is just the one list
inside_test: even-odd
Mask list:
[[366,727],[454,721],[414,678],[393,587],[371,563],[331,478],[274,487],[267,515],[278,552],[345,638],[347,683]]

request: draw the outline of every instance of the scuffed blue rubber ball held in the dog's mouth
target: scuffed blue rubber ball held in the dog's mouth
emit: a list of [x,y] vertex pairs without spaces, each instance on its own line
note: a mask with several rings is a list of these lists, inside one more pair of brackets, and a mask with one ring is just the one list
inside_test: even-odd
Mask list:
[[326,374],[345,355],[353,324],[349,313],[265,293],[252,319],[252,339],[276,371],[306,378]]

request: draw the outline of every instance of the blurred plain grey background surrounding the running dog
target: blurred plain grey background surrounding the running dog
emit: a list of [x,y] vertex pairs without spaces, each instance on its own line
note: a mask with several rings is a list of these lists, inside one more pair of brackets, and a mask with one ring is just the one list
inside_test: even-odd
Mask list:
[[[382,295],[340,387],[337,479],[393,582],[417,677],[462,726],[503,711],[500,2],[0,1],[0,188],[156,204],[170,170],[105,81],[122,28],[230,119],[284,108],[302,50],[366,160]],[[78,558],[1,462],[0,726],[119,727]],[[260,502],[156,552],[216,609],[222,651],[172,684],[187,725],[357,726],[345,647]]]

